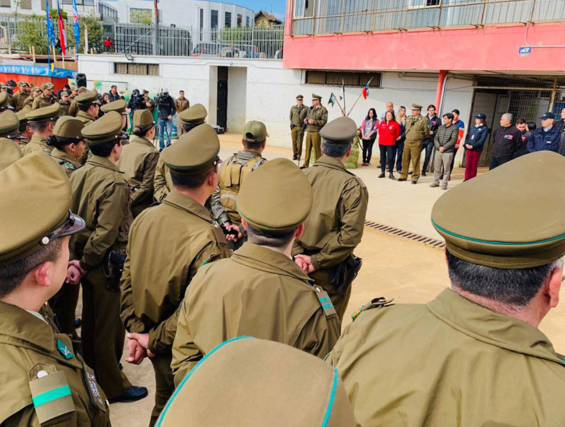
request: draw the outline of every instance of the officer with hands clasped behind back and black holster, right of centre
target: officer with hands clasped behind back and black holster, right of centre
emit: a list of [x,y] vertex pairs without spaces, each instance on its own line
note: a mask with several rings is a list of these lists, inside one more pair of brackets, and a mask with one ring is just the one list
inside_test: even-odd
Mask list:
[[305,171],[314,190],[314,206],[293,249],[298,265],[329,293],[340,319],[353,280],[343,282],[342,273],[360,268],[353,250],[361,241],[369,202],[361,178],[345,169],[356,133],[357,126],[348,117],[336,118],[320,130],[324,155]]

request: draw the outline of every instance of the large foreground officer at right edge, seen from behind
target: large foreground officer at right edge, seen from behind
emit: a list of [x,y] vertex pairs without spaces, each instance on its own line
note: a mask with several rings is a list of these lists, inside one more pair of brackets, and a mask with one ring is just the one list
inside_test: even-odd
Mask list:
[[559,302],[564,168],[528,154],[435,202],[451,289],[425,305],[373,300],[329,357],[358,426],[564,425],[565,360],[537,329]]

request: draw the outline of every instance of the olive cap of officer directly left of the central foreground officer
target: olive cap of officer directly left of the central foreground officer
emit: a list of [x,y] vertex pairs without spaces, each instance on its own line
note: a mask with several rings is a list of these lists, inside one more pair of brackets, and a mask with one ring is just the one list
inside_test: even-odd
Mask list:
[[219,163],[220,140],[210,125],[196,126],[161,153],[163,163],[174,173],[196,175]]

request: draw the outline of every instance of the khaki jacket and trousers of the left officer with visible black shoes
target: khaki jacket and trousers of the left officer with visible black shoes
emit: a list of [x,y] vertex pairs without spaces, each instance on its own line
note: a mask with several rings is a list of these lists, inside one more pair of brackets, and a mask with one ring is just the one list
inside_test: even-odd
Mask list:
[[125,331],[120,320],[119,289],[109,289],[102,273],[109,249],[125,249],[132,215],[130,189],[123,173],[107,158],[92,156],[70,177],[71,210],[84,218],[86,228],[72,236],[70,248],[88,273],[83,287],[82,341],[85,361],[109,399],[131,384],[120,371]]

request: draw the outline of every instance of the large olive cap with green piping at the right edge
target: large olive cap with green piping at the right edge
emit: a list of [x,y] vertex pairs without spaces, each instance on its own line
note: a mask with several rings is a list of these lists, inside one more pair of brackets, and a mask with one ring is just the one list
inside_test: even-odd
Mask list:
[[[565,157],[528,154],[447,191],[431,222],[457,258],[525,269],[565,254]],[[535,176],[535,179],[532,177]]]

